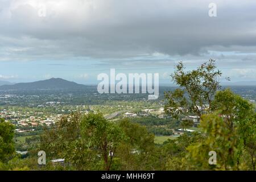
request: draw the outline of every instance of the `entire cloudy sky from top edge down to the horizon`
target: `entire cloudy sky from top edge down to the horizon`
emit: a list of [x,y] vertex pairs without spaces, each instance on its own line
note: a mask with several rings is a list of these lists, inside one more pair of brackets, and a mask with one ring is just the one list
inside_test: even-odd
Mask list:
[[180,60],[210,58],[234,82],[256,80],[256,1],[0,0],[0,80],[90,84],[115,68],[164,83]]

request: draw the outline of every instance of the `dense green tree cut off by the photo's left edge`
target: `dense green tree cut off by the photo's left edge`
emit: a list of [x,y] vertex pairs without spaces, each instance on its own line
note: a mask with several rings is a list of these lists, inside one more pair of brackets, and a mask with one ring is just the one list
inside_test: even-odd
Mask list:
[[14,125],[0,118],[0,162],[6,162],[15,153]]

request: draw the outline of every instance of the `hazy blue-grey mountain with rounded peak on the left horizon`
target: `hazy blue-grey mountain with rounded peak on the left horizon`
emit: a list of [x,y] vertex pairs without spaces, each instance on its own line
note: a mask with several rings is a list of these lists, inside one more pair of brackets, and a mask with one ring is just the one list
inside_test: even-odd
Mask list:
[[86,88],[88,86],[62,78],[0,86],[0,90],[83,90]]

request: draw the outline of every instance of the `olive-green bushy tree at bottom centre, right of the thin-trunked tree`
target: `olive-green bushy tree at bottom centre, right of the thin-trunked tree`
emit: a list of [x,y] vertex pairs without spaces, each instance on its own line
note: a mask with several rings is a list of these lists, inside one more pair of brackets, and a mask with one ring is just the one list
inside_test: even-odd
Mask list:
[[149,133],[145,126],[133,123],[130,119],[121,119],[118,126],[124,131],[123,140],[117,150],[123,170],[152,170],[155,169],[158,158],[154,144],[155,135]]

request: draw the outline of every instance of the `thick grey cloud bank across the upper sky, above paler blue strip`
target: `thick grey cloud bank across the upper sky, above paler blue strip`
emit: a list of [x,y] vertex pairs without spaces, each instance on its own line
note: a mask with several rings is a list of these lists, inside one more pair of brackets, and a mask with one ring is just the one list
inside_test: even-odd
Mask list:
[[256,2],[211,2],[1,1],[1,60],[255,52]]

